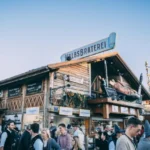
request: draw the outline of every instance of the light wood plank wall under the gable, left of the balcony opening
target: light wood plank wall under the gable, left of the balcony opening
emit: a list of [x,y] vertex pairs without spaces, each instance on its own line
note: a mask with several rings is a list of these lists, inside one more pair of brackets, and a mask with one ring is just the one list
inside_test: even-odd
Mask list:
[[[64,81],[63,76],[69,75],[70,77],[75,77],[77,79],[82,80],[83,84],[77,82],[67,82]],[[72,66],[62,67],[57,71],[57,79],[54,80],[53,88],[57,88],[60,86],[64,86],[69,83],[71,86],[67,88],[67,91],[72,91],[74,93],[87,94],[89,95],[89,64],[88,63],[80,63]],[[57,97],[61,96],[63,93],[62,89],[56,91]]]

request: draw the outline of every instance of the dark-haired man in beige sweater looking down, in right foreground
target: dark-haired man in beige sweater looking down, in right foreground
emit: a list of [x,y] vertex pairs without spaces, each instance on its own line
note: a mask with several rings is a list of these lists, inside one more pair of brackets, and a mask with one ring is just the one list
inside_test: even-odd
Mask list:
[[142,122],[132,117],[127,122],[127,128],[125,135],[122,135],[117,140],[116,150],[136,150],[136,143],[134,142],[134,137],[138,135],[141,131]]

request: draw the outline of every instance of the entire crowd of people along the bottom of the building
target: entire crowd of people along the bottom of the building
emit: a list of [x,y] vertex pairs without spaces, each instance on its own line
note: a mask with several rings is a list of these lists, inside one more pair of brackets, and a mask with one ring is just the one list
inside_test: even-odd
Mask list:
[[[28,125],[23,134],[9,121],[1,134],[0,150],[85,150],[85,134],[76,123],[66,127],[61,123],[56,127],[41,129],[39,124]],[[93,150],[150,150],[150,124],[135,117],[128,120],[126,130],[114,125],[114,129],[104,130],[98,126]]]

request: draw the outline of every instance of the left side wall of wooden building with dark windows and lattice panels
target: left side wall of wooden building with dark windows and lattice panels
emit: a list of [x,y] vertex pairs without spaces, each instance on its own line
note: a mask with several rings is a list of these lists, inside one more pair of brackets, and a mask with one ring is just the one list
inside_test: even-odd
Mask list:
[[[40,122],[43,126],[48,81],[47,66],[0,81],[0,110],[3,110],[1,124],[2,119],[6,122],[9,119],[15,120],[15,116],[18,116],[16,124],[19,129],[33,121]],[[39,112],[28,116],[26,112],[31,108],[38,108]]]

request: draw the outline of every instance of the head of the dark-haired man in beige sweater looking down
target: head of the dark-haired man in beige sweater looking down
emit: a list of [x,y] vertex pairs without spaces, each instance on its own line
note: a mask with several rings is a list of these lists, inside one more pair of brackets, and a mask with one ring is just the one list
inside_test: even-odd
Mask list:
[[131,117],[127,122],[127,130],[131,137],[135,137],[142,129],[142,122],[136,118]]

